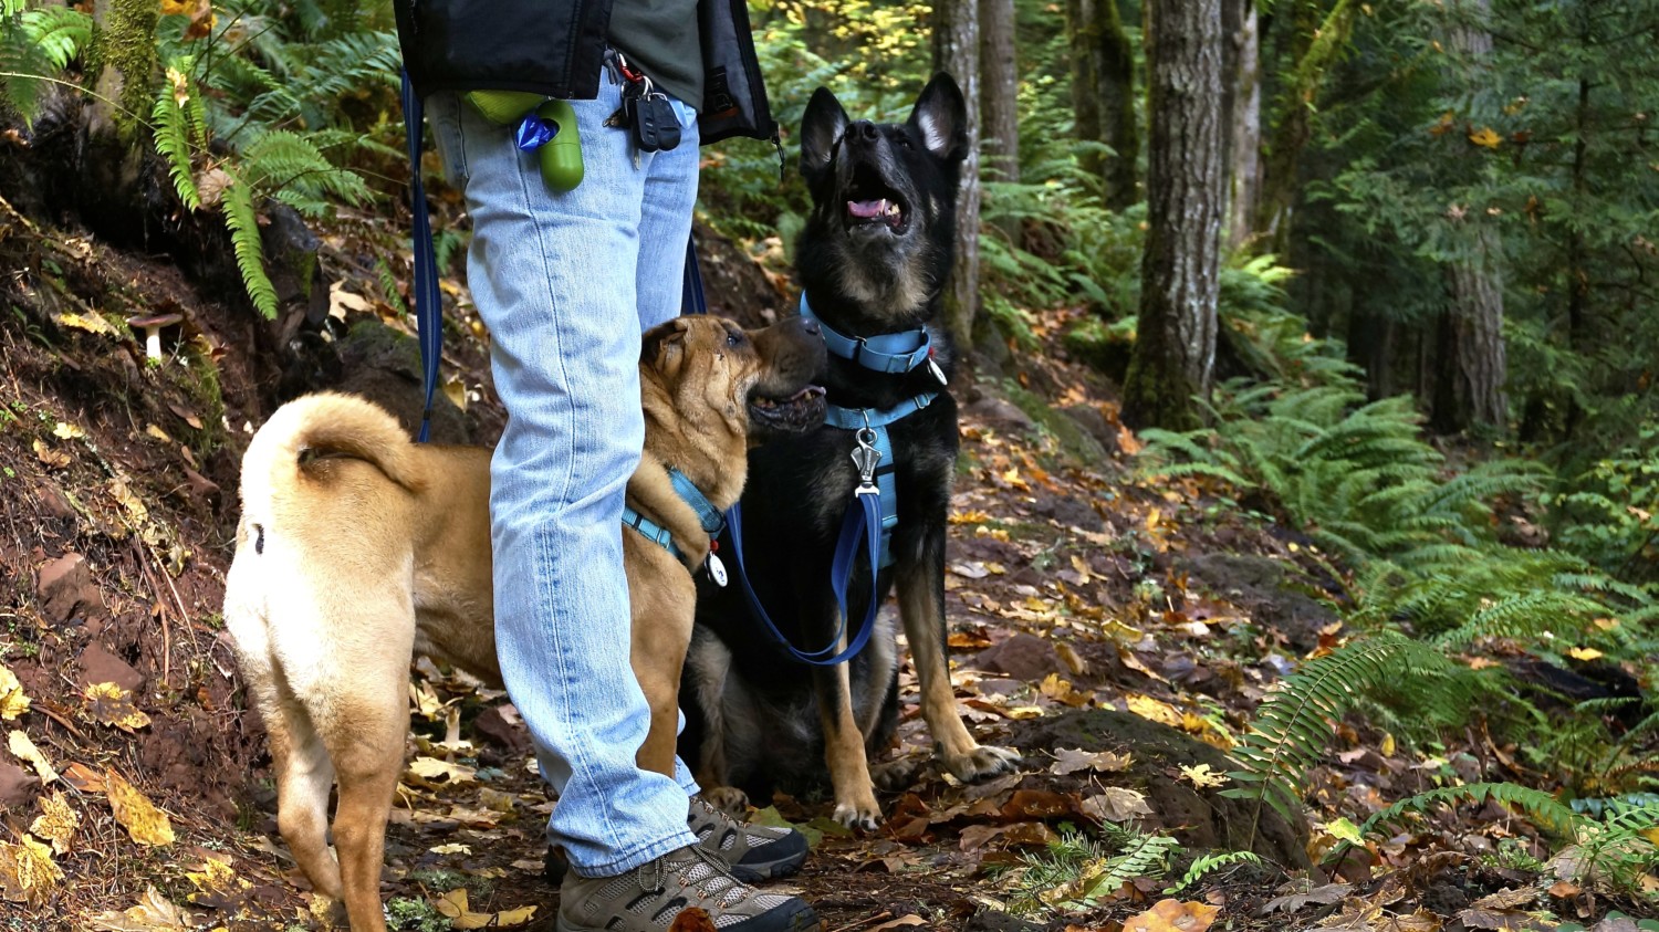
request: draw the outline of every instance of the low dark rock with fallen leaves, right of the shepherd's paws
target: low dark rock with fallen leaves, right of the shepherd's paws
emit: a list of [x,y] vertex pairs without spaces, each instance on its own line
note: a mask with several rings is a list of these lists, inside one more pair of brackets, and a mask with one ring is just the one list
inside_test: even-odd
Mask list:
[[[1168,725],[1113,710],[1068,711],[1014,725],[1012,745],[1030,751],[1082,748],[1083,751],[1128,753],[1128,769],[1107,776],[1113,786],[1135,789],[1146,798],[1151,831],[1168,831],[1191,849],[1249,849],[1281,867],[1309,867],[1307,824],[1297,813],[1286,823],[1272,806],[1221,796],[1176,779],[1180,765],[1209,765],[1229,771],[1233,763],[1219,750]],[[1253,816],[1259,824],[1253,826]]]

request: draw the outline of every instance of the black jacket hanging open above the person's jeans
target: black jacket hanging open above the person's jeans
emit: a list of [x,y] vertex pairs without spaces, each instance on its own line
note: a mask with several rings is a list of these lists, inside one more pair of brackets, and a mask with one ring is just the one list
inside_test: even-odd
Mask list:
[[[415,91],[534,91],[599,95],[611,0],[397,0],[403,66]],[[755,58],[745,0],[700,0],[703,143],[730,136],[776,139]]]

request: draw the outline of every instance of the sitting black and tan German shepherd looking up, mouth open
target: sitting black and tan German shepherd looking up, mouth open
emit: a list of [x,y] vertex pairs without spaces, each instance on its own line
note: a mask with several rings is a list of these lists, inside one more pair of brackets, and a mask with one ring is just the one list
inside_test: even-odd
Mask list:
[[[851,121],[820,88],[801,124],[801,174],[813,212],[796,255],[803,308],[810,305],[821,322],[831,350],[830,405],[854,420],[898,415],[886,425],[891,456],[876,468],[896,493],[896,502],[884,506],[898,512],[878,592],[883,600],[898,592],[922,715],[946,769],[977,779],[1010,769],[1017,756],[969,735],[946,667],[946,509],[957,423],[944,385],[954,352],[939,315],[966,154],[966,108],[949,75],[927,83],[902,124]],[[869,345],[888,353],[863,350],[859,340],[876,337],[886,340]],[[896,365],[894,357],[901,357]],[[858,431],[825,426],[750,454],[745,570],[778,632],[803,652],[846,643],[869,605],[866,557],[848,585],[849,620],[838,640],[830,570],[843,516],[849,504],[858,507],[854,448]],[[730,534],[720,547],[732,566]],[[776,786],[821,784],[825,761],[834,818],[873,829],[881,811],[869,756],[888,745],[898,721],[898,668],[896,632],[886,619],[853,660],[816,667],[780,645],[737,580],[705,585],[685,663],[680,753],[705,793],[732,808],[745,796],[770,799]]]

